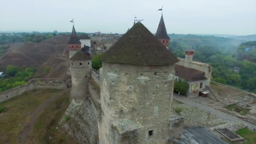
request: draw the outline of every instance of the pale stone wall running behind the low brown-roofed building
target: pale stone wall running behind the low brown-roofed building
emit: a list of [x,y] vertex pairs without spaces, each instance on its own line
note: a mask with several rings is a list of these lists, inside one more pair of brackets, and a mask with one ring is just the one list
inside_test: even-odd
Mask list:
[[206,85],[210,85],[211,72],[212,72],[212,67],[210,64],[202,63],[199,61],[188,61],[182,58],[178,58],[178,59],[179,59],[179,62],[177,62],[176,64],[205,72],[205,77],[208,78]]

